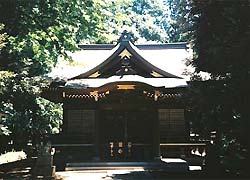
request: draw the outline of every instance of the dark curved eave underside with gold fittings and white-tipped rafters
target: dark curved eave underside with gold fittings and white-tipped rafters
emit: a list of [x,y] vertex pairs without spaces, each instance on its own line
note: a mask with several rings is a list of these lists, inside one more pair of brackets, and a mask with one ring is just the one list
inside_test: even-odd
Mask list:
[[129,98],[126,96],[116,96],[117,94],[132,93],[156,100],[169,100],[180,97],[185,92],[184,87],[164,88],[153,87],[151,85],[140,82],[113,82],[108,83],[97,88],[75,89],[68,87],[57,87],[44,89],[42,96],[53,102],[64,102],[65,99],[86,99],[99,101],[105,97],[114,95],[115,98],[121,97]]

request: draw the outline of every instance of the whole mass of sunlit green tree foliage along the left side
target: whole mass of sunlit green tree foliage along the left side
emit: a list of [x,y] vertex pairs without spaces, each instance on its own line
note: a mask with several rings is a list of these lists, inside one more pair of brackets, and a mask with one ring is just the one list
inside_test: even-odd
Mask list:
[[[35,141],[57,131],[61,105],[42,99],[49,81],[43,77],[68,59],[79,39],[90,39],[101,29],[95,1],[0,1],[0,23],[5,25],[0,54],[0,111],[14,141]],[[94,31],[95,30],[95,31]],[[20,138],[22,137],[22,138]]]

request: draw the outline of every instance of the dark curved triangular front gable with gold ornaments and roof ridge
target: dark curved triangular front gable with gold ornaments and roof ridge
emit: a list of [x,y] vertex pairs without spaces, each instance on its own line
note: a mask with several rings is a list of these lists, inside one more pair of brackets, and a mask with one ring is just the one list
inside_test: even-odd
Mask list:
[[[138,45],[140,48],[146,49],[159,49],[163,46],[171,48],[186,48],[186,44],[162,44],[162,45]],[[124,32],[119,39],[118,44],[113,47],[113,53],[101,64],[97,65],[93,69],[82,73],[73,79],[95,79],[95,78],[109,78],[112,76],[124,76],[124,75],[139,75],[145,78],[181,78],[174,74],[168,73],[143,58],[140,54],[140,50],[136,47],[129,38],[127,32]],[[80,48],[90,49],[111,49],[112,45],[85,45]]]

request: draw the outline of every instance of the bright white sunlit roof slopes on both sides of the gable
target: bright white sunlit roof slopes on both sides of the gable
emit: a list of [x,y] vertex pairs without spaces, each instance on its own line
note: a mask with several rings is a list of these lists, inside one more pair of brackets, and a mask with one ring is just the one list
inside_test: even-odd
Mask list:
[[[56,68],[52,70],[49,76],[72,78],[96,67],[105,61],[118,48],[112,50],[80,50],[75,53],[69,53],[75,64],[70,64],[60,60]],[[183,75],[185,69],[185,59],[192,53],[185,49],[162,49],[162,50],[139,50],[138,53],[149,63],[162,70],[189,80],[189,77]]]

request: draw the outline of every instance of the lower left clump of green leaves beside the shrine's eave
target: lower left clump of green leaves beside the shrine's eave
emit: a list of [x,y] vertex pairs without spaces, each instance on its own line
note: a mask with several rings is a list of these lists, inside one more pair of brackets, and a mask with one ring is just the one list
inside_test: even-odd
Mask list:
[[1,72],[0,112],[2,124],[8,127],[15,139],[40,139],[59,132],[62,107],[41,97],[40,88],[47,83],[40,78],[28,78],[9,72]]

